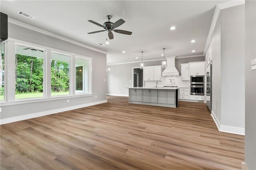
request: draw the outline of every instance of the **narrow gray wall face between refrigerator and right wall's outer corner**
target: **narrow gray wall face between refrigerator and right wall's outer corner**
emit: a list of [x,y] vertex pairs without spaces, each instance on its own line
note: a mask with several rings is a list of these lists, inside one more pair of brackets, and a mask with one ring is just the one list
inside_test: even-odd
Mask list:
[[218,17],[209,47],[206,51],[206,57],[212,56],[212,112],[221,122],[221,87],[220,87],[220,58],[221,58],[221,14]]

